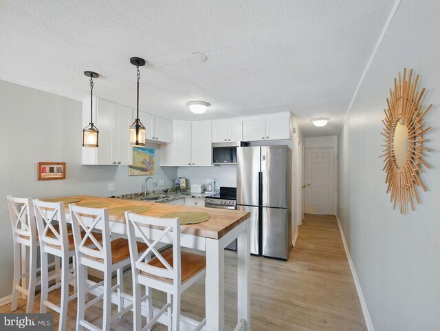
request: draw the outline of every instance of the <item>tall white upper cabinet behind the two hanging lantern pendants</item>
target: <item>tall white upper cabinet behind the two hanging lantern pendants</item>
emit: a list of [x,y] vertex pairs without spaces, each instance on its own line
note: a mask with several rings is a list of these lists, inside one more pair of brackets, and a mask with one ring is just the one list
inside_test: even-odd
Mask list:
[[[90,122],[90,98],[83,100],[83,127]],[[133,109],[94,97],[94,124],[98,127],[98,148],[83,147],[83,164],[131,165],[129,127]]]

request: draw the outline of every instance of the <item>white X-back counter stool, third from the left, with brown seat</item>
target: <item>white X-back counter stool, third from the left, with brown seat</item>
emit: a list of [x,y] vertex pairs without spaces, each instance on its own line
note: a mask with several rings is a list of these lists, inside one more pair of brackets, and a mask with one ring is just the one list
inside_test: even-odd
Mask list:
[[[76,246],[77,263],[77,290],[78,290],[78,310],[76,317],[76,331],[87,328],[88,330],[110,330],[111,323],[118,317],[126,314],[133,309],[133,304],[124,308],[123,301],[123,268],[130,266],[129,243],[127,239],[118,238],[111,240],[109,225],[109,210],[86,208],[71,204],[69,206],[72,226],[74,228],[74,238]],[[102,244],[96,240],[94,230],[102,231]],[[80,231],[83,231],[80,233]],[[93,246],[87,245],[87,240],[94,242]],[[137,249],[144,252],[146,244],[138,243]],[[98,284],[89,285],[87,281],[87,269],[94,268],[104,273],[104,280]],[[116,285],[111,286],[111,274],[116,271]],[[103,286],[102,295],[98,295],[86,301],[87,294]],[[118,312],[111,315],[111,295],[117,291]],[[93,294],[92,294],[93,295]],[[102,328],[98,328],[89,321],[85,320],[85,310],[103,300]]]

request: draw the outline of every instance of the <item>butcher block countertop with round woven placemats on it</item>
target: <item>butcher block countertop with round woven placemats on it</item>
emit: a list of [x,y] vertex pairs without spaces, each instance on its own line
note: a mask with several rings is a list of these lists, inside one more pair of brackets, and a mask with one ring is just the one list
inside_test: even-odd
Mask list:
[[[157,204],[155,202],[144,202],[137,200],[124,200],[113,199],[110,197],[92,197],[88,195],[73,195],[81,201],[75,202],[75,204],[83,204],[85,202],[107,202],[110,209],[113,207],[121,206],[148,206],[148,211],[140,213],[140,215],[148,215],[154,217],[161,217],[168,213],[177,213],[180,211],[204,211],[208,213],[210,220],[199,224],[187,224],[182,225],[180,228],[181,233],[187,233],[190,235],[197,235],[199,237],[206,237],[212,239],[219,239],[226,233],[235,228],[241,222],[250,217],[249,211],[233,211],[230,209],[214,209],[214,208],[201,208],[201,207],[189,207],[180,206],[177,204]],[[69,204],[65,204],[66,212],[69,211]],[[124,215],[109,215],[109,220],[114,222],[125,223]]]

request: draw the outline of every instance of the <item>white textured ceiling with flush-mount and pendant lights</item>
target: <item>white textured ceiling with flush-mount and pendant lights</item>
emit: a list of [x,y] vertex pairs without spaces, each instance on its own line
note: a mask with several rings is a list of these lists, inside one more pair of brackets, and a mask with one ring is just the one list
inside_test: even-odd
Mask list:
[[[292,111],[305,136],[337,134],[394,0],[0,0],[0,78],[172,119]],[[208,60],[192,61],[202,52]],[[212,106],[203,115],[189,100]],[[331,118],[318,129],[310,118]]]

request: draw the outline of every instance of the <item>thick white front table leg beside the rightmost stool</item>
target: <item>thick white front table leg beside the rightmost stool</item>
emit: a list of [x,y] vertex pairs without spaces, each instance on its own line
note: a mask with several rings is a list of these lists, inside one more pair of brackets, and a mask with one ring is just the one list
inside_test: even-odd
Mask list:
[[217,239],[206,239],[206,327],[225,330],[225,251]]

